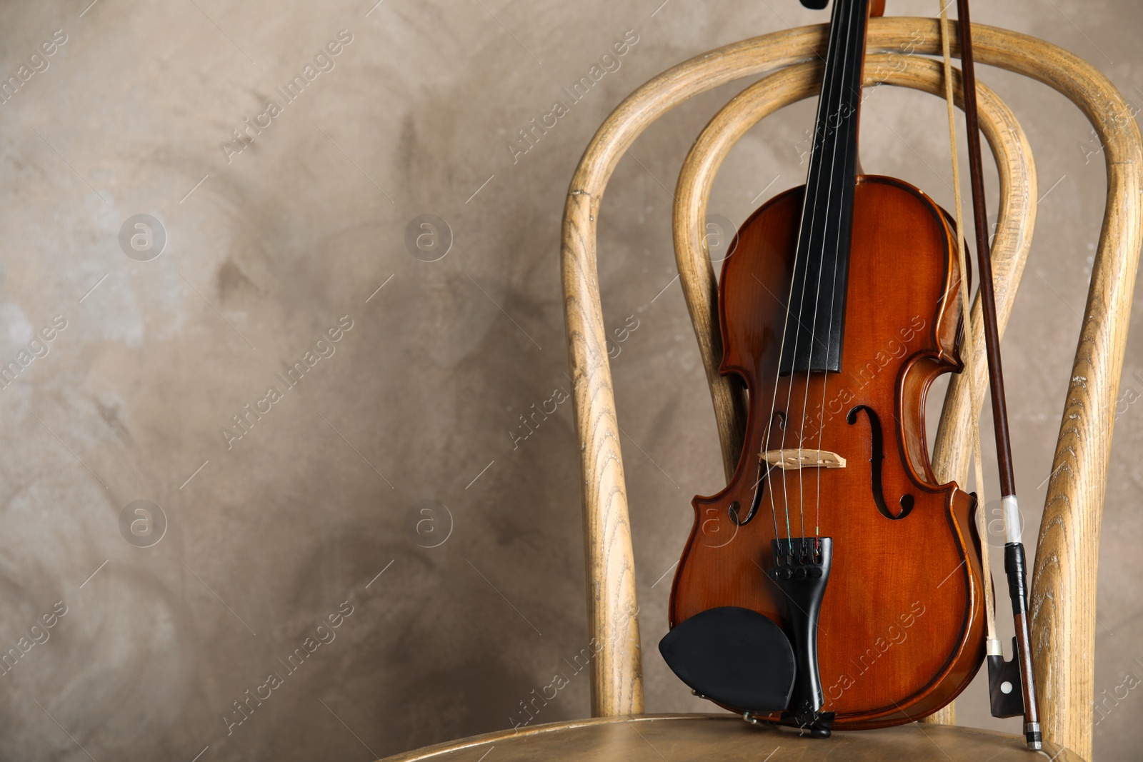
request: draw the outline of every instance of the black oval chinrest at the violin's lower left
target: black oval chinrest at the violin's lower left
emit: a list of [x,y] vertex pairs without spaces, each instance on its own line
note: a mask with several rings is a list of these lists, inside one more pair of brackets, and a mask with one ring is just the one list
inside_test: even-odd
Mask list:
[[793,691],[790,639],[758,611],[708,609],[658,642],[666,665],[696,693],[740,712],[781,712]]

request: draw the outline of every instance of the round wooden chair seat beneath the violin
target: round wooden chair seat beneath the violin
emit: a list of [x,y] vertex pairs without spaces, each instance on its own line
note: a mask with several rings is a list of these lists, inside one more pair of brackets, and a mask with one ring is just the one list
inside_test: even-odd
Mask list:
[[[1045,744],[1044,751],[1054,762],[1082,762],[1072,752],[1052,744]],[[486,754],[487,762],[1030,762],[1047,759],[1030,754],[1020,736],[959,725],[913,723],[884,730],[838,731],[831,738],[816,739],[800,737],[796,730],[786,728],[750,725],[729,714],[644,714],[553,722],[473,736],[390,756],[385,762],[478,762]]]

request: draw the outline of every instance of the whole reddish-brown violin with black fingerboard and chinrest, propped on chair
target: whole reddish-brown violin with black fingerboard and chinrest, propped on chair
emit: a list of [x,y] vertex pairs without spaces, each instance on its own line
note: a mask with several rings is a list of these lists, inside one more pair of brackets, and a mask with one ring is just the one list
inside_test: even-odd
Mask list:
[[949,214],[858,175],[870,7],[834,0],[806,184],[724,262],[745,441],[726,488],[694,498],[660,644],[696,695],[817,736],[932,714],[985,655],[975,499],[936,479],[925,427],[933,382],[962,367],[968,273]]

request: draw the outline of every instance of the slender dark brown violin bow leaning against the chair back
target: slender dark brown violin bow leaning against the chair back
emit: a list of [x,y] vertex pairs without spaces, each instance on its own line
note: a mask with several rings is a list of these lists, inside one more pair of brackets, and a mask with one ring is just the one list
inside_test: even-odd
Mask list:
[[[948,40],[946,0],[941,0],[942,33]],[[1016,478],[1012,465],[1012,441],[1008,430],[1008,409],[1005,401],[1004,370],[1000,364],[1000,331],[997,324],[996,292],[992,280],[992,257],[989,244],[988,209],[984,199],[984,173],[981,159],[981,131],[976,111],[976,73],[973,64],[972,22],[968,0],[957,0],[957,23],[960,31],[960,61],[965,97],[965,127],[968,134],[968,170],[973,194],[973,222],[976,232],[976,257],[980,272],[981,312],[984,322],[984,350],[989,368],[989,390],[992,398],[992,423],[996,431],[997,463],[1000,470],[1001,508],[1005,526],[1005,572],[1008,577],[1008,595],[1016,636],[1013,637],[1013,658],[1005,661],[999,642],[990,627],[988,649],[989,697],[992,716],[1013,717],[1024,715],[1024,738],[1032,751],[1042,748],[1039,711],[1036,703],[1036,677],[1032,669],[1032,644],[1028,621],[1028,571],[1022,526],[1016,500]],[[945,45],[948,56],[948,43]],[[946,57],[948,65],[948,57]],[[948,70],[946,70],[948,71]],[[949,86],[951,89],[951,83]],[[956,166],[956,149],[953,149]],[[956,170],[954,170],[956,171]],[[958,224],[960,224],[960,195],[957,189]],[[962,233],[958,232],[962,241]],[[967,295],[966,297],[967,298]],[[965,327],[966,337],[972,326]],[[976,415],[976,398],[973,393],[973,415]],[[980,450],[977,442],[977,474],[980,474]],[[977,476],[977,482],[981,479]],[[977,484],[977,489],[982,488]],[[984,547],[984,554],[988,547]],[[986,564],[985,564],[986,568]],[[991,584],[990,579],[986,584]],[[1020,682],[1021,691],[1014,692],[1014,682]]]

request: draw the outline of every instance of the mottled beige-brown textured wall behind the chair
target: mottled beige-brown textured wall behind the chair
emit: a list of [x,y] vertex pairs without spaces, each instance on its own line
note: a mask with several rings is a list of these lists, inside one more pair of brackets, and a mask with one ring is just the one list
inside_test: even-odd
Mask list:
[[[0,361],[29,362],[0,391],[0,647],[26,649],[0,679],[0,759],[363,760],[523,722],[520,703],[588,644],[558,276],[572,170],[649,77],[824,16],[792,0],[88,2],[0,7],[0,74],[26,77],[0,105]],[[976,5],[977,22],[1057,42],[1143,103],[1135,3]],[[53,55],[30,61],[55,30]],[[624,39],[580,101],[561,91]],[[327,42],[337,55],[304,71]],[[307,73],[296,99],[275,90]],[[1034,529],[1103,169],[1061,97],[980,75],[1023,120],[1045,196],[1005,343]],[[641,137],[601,214],[649,712],[709,708],[655,648],[690,497],[722,484],[672,280],[670,187],[738,87]],[[517,130],[554,101],[566,110],[523,152]],[[871,96],[866,170],[949,204],[942,109]],[[812,118],[800,104],[748,136],[712,212],[738,224],[800,183]],[[269,126],[221,147],[246,119]],[[125,254],[134,215],[159,220],[158,257],[157,239],[130,248],[130,226]],[[435,262],[407,247],[422,215],[450,230]],[[66,327],[29,350],[54,319]],[[290,386],[275,374],[295,361],[306,370]],[[1129,688],[1143,677],[1138,329],[1124,379],[1101,760],[1136,759],[1143,713]],[[232,416],[247,404],[263,412],[242,433]],[[586,713],[588,677],[570,676],[534,722]],[[243,720],[247,690],[269,698]],[[985,701],[977,681],[961,721],[1014,727]]]

